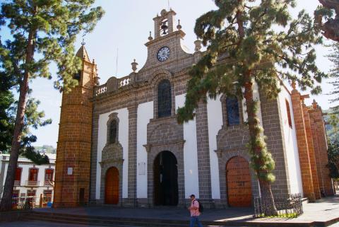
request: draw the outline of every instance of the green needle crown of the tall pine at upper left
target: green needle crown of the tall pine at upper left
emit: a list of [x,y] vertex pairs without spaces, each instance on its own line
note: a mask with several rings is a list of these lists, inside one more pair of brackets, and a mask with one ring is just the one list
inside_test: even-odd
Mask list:
[[[6,73],[13,74],[18,81],[25,72],[30,74],[31,80],[37,76],[50,79],[49,64],[55,62],[59,69],[55,88],[70,91],[78,84],[73,74],[81,68],[81,59],[75,56],[74,51],[76,35],[92,31],[104,14],[101,7],[90,8],[93,3],[94,0],[2,3],[0,22],[8,25],[13,36],[13,40],[7,40],[6,47],[0,50],[11,55],[11,59],[4,62]],[[39,57],[27,63],[25,57],[30,32],[33,33],[34,52]]]

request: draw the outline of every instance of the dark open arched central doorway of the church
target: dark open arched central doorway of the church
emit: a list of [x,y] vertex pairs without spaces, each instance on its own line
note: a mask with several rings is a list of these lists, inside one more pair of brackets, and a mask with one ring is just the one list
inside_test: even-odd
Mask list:
[[160,152],[153,163],[155,206],[177,206],[177,158],[170,151]]

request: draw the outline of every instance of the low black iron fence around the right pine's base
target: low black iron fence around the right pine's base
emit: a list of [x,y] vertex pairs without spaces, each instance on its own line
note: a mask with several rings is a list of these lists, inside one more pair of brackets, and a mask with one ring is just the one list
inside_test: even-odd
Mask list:
[[287,194],[274,197],[275,207],[278,214],[274,214],[270,209],[273,209],[265,199],[254,197],[254,218],[264,217],[281,217],[281,218],[296,218],[304,213],[302,209],[301,194]]

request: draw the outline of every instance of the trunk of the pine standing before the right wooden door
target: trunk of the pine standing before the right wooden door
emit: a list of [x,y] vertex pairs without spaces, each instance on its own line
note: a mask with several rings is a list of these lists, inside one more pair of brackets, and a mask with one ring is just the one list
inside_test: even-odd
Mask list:
[[[255,143],[254,141],[258,141],[260,139],[261,134],[258,128],[260,127],[258,117],[256,116],[255,105],[256,102],[253,98],[253,83],[251,81],[251,71],[248,71],[245,75],[245,91],[244,91],[244,98],[246,100],[246,112],[248,115],[248,123],[249,123],[249,136],[250,136],[250,143],[251,143],[251,153],[258,154],[260,157],[261,151],[265,149],[262,144]],[[263,160],[260,158],[256,159],[256,165],[262,166]],[[275,216],[278,215],[277,208],[275,207],[274,198],[272,194],[272,190],[270,189],[270,182],[267,180],[261,179],[261,175],[267,174],[267,170],[256,170],[256,175],[258,176],[258,181],[260,185],[260,192],[261,192],[261,204],[263,208],[263,213],[266,216]]]

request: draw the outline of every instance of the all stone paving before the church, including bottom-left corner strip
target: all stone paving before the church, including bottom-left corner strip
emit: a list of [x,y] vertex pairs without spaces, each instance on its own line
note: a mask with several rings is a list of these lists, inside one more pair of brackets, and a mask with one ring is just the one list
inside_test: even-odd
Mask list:
[[[80,207],[73,209],[35,209],[37,212],[67,214],[74,216],[88,216],[88,217],[102,217],[102,219],[152,219],[155,220],[175,220],[188,221],[189,212],[185,209],[177,209],[173,207],[158,207],[156,209],[145,208],[121,208],[113,206],[94,206],[94,207]],[[41,213],[38,213],[41,214]],[[304,214],[297,219],[253,219],[253,209],[213,209],[203,212],[201,220],[205,221],[206,226],[208,222],[216,223],[220,226],[232,226],[234,221],[242,226],[330,226],[339,227],[339,196],[326,197],[318,200],[316,203],[304,204]],[[62,216],[62,215],[61,215]],[[240,222],[240,223],[239,223]],[[186,222],[181,222],[186,223]],[[5,225],[4,225],[5,224]],[[214,224],[213,224],[214,225]],[[29,221],[29,222],[13,222],[0,223],[0,226],[46,226],[46,227],[73,227],[72,224],[54,224],[43,221]],[[78,225],[81,226],[81,225]],[[132,226],[129,226],[132,227]]]

